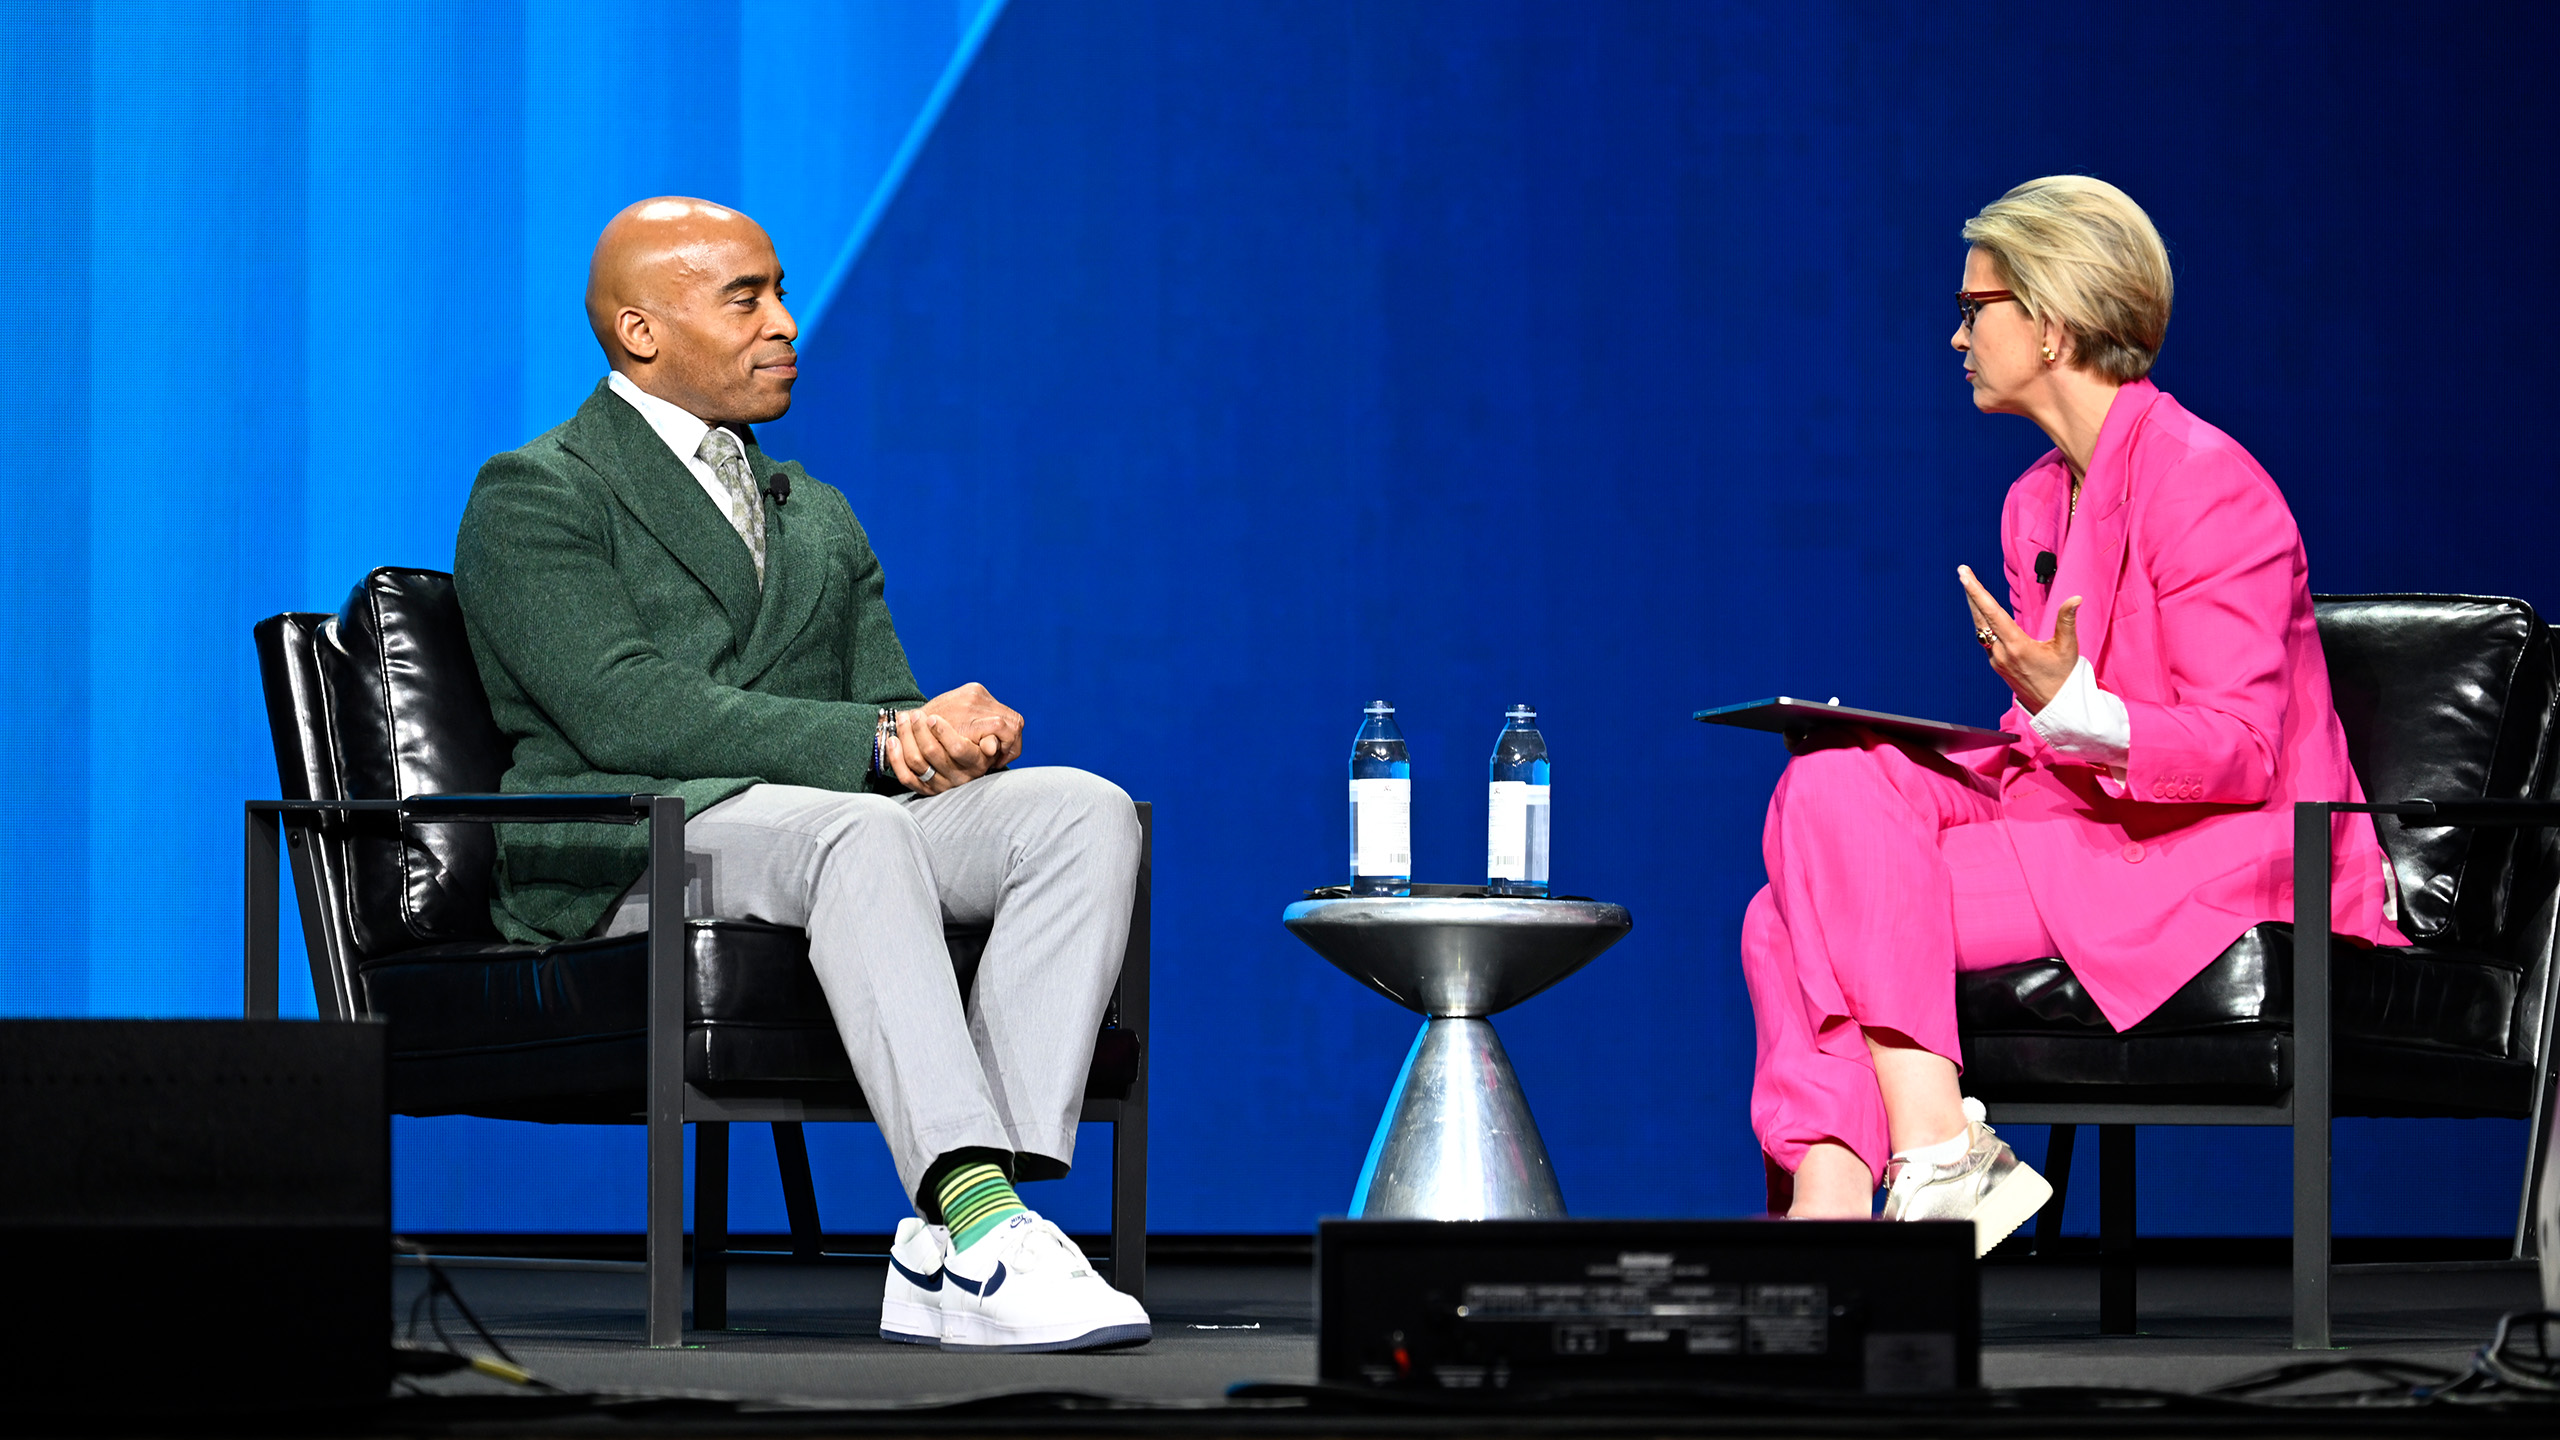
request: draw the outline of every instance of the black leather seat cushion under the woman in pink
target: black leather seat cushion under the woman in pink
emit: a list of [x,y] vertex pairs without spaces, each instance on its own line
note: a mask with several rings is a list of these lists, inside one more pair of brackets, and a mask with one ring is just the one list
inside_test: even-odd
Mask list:
[[[2263,1102],[2291,1084],[2291,974],[2294,928],[2258,925],[2125,1033],[2058,958],[1961,974],[1966,1089],[1984,1099]],[[2516,1027],[2524,971],[2511,961],[2340,940],[2330,976],[2340,1099],[2394,1094],[2412,1115],[2529,1107],[2532,1063]]]

